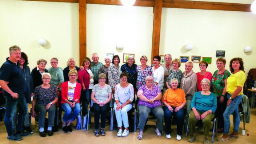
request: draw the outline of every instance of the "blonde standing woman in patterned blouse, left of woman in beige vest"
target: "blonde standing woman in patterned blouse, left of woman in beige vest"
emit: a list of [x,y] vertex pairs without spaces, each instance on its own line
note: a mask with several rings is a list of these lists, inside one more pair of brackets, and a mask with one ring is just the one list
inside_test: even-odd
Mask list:
[[175,58],[171,62],[173,69],[170,70],[169,76],[166,80],[167,88],[171,88],[171,80],[173,78],[176,78],[178,80],[178,88],[180,87],[180,80],[182,78],[182,72],[179,69],[180,67],[180,60],[178,58]]

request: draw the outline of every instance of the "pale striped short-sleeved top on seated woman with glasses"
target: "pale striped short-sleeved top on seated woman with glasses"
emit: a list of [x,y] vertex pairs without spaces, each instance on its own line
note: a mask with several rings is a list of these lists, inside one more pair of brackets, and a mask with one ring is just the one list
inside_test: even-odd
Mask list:
[[92,91],[95,92],[94,97],[98,102],[105,102],[108,99],[108,93],[112,92],[108,84],[106,84],[105,88],[100,88],[99,84],[95,84]]

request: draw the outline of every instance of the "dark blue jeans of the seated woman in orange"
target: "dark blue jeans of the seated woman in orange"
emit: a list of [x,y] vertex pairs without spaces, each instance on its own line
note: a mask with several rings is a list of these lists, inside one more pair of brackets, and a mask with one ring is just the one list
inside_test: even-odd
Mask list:
[[171,134],[171,124],[172,124],[172,116],[173,114],[176,114],[177,118],[177,134],[182,136],[182,127],[184,124],[184,116],[185,116],[185,108],[181,108],[178,112],[175,112],[175,108],[173,108],[173,111],[171,112],[167,106],[164,106],[164,123],[165,123],[165,133]]

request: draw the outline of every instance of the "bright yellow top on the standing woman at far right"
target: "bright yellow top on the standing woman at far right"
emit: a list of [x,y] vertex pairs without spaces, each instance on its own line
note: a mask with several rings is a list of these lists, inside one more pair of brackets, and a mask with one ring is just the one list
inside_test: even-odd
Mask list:
[[244,87],[244,82],[246,80],[245,73],[240,70],[239,72],[236,72],[235,74],[231,74],[231,76],[228,77],[227,80],[227,92],[229,94],[233,94],[236,90],[237,86],[242,87],[241,92],[238,95],[243,94],[243,87]]

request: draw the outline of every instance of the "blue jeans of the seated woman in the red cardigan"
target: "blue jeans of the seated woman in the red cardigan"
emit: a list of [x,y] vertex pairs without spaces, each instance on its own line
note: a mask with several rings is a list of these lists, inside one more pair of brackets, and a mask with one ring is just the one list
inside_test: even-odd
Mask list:
[[[74,108],[71,108],[71,106],[68,103],[61,104],[61,107],[65,111],[63,115],[63,122],[68,122],[68,120],[75,121],[76,117],[78,116],[81,110],[79,103],[76,103]],[[74,109],[73,113],[72,109]]]

